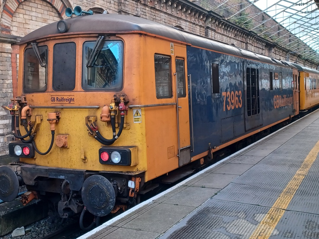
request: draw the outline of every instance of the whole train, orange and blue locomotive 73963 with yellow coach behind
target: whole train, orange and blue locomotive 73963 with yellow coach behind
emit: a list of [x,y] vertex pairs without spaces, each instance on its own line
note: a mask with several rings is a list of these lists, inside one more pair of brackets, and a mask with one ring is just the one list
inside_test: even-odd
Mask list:
[[4,201],[26,185],[24,204],[55,200],[63,218],[115,213],[319,103],[317,70],[143,18],[74,13],[19,43],[18,95],[3,107],[21,174],[0,167]]

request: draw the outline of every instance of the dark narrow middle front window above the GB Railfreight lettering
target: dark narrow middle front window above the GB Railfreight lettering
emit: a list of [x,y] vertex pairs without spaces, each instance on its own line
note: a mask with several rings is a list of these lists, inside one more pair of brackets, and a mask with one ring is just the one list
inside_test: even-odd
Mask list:
[[76,50],[74,42],[58,43],[53,47],[52,88],[54,91],[73,91],[75,88]]

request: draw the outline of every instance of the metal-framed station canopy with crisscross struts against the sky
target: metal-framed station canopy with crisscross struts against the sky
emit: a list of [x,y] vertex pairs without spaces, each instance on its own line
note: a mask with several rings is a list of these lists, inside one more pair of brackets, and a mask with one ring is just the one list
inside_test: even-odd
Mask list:
[[319,0],[193,0],[319,64]]

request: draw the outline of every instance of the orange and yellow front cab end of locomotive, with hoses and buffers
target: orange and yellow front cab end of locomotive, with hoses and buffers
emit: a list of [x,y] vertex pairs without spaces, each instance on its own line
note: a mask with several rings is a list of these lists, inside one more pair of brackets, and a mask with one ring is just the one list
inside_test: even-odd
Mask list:
[[[9,154],[20,159],[20,185],[29,191],[23,203],[55,199],[64,218],[84,206],[105,216],[135,204],[146,182],[191,160],[185,45],[102,15],[22,38],[18,97],[6,106],[17,139]],[[17,176],[0,170],[16,188]]]

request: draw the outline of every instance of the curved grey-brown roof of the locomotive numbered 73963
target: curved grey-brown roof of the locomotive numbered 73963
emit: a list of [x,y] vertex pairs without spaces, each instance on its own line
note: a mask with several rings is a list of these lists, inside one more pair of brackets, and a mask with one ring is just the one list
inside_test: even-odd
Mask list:
[[70,25],[67,33],[59,33],[56,27],[57,23],[51,23],[27,34],[21,39],[19,44],[32,42],[37,39],[56,34],[145,32],[190,43],[193,46],[203,47],[251,60],[291,67],[290,65],[271,57],[256,54],[251,51],[214,41],[196,34],[181,31],[177,28],[163,25],[145,18],[119,14],[94,14],[68,18],[65,19],[65,21],[68,25]]

